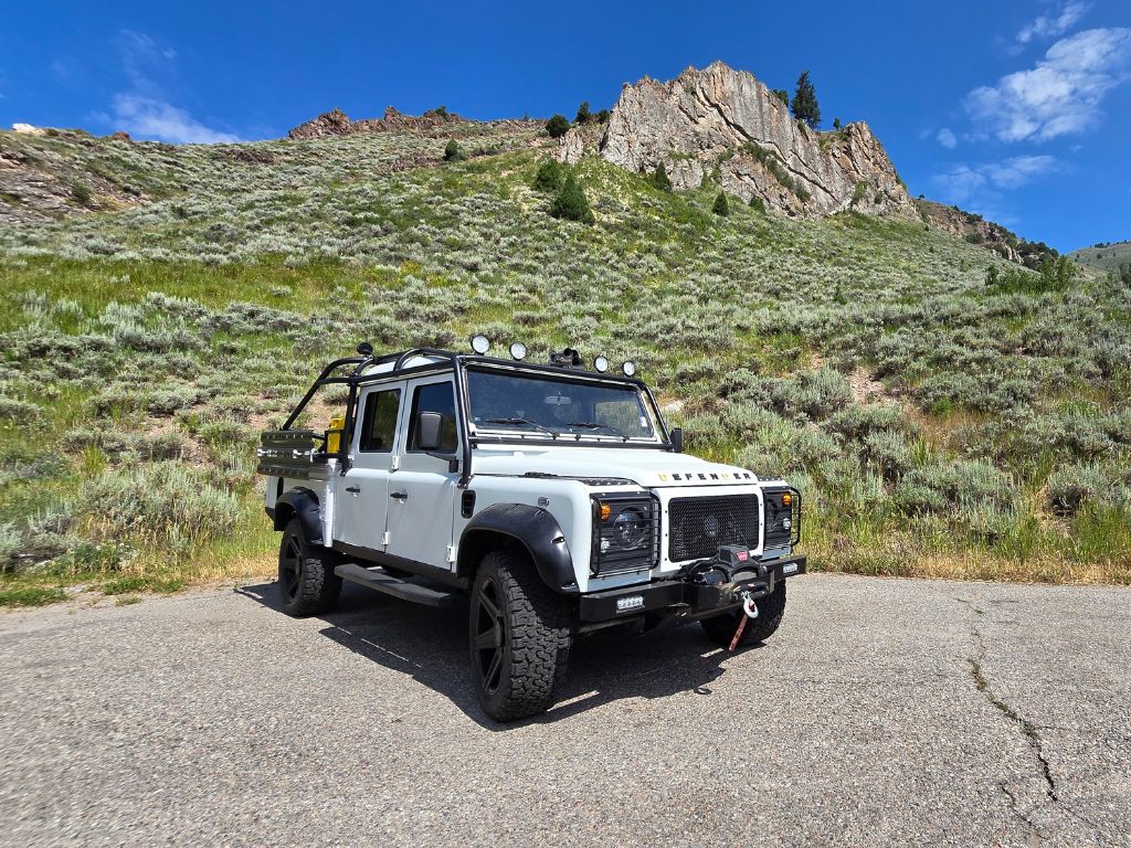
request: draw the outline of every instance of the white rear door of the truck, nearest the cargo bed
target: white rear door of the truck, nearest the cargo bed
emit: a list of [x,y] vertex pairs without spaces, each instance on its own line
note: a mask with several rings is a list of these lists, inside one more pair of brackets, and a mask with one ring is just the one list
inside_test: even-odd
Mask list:
[[347,545],[386,551],[389,476],[397,464],[397,421],[404,383],[370,386],[357,398],[351,466],[338,482],[334,536]]

